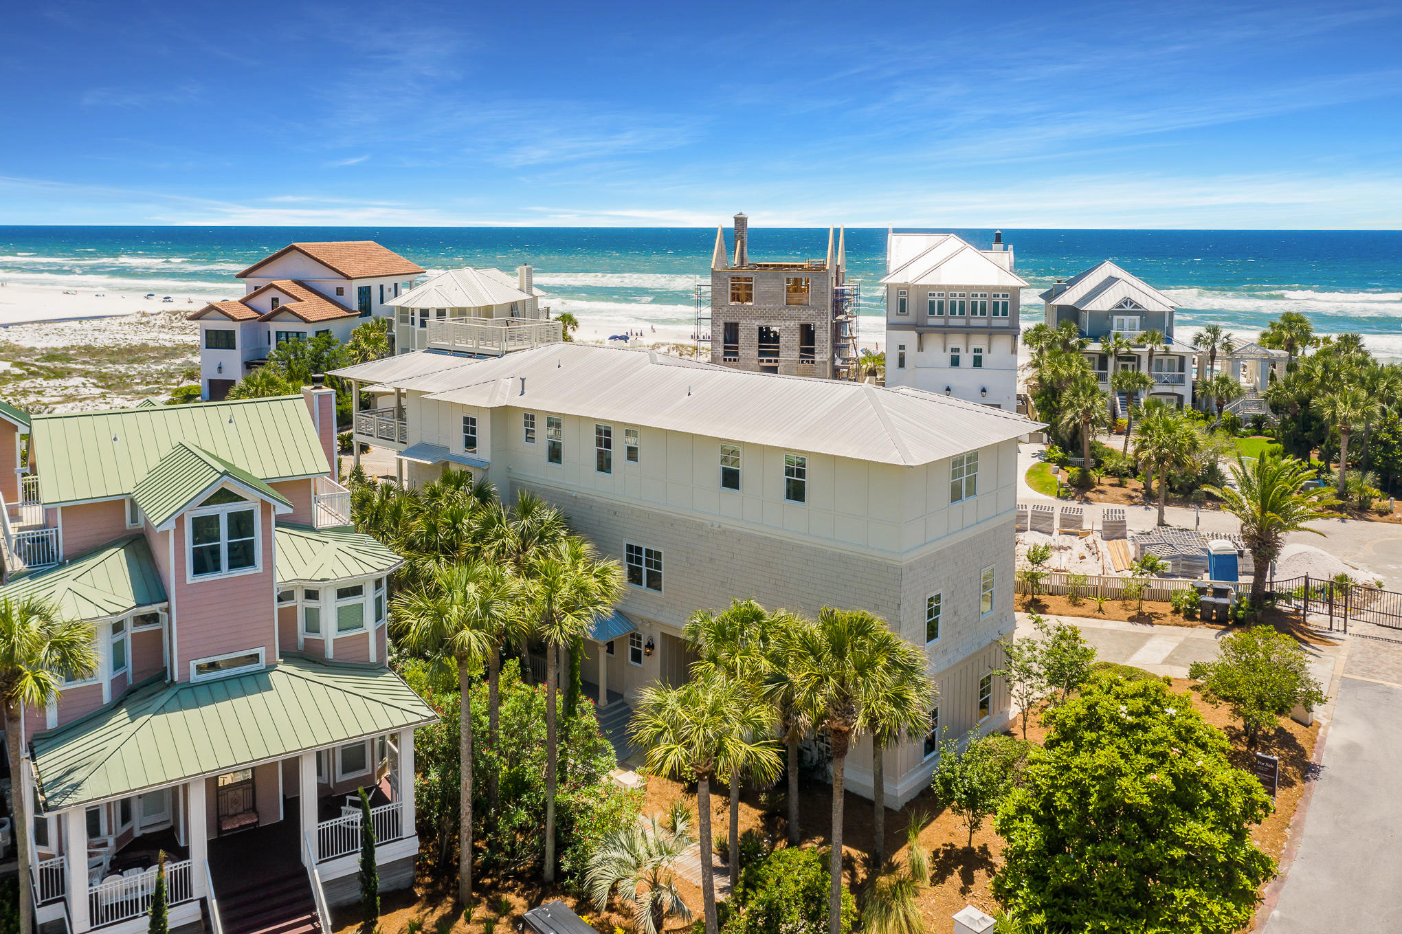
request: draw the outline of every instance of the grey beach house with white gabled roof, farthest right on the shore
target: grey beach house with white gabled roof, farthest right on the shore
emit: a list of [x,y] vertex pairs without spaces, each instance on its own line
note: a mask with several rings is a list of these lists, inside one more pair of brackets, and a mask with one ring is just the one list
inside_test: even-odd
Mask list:
[[[1145,398],[1192,405],[1192,360],[1200,351],[1175,335],[1176,309],[1166,295],[1105,259],[1066,282],[1059,279],[1040,297],[1047,324],[1070,321],[1089,341],[1082,352],[1101,387],[1112,391],[1110,405],[1120,418]],[[1148,373],[1154,384],[1131,398],[1113,387],[1110,377],[1119,370]]]

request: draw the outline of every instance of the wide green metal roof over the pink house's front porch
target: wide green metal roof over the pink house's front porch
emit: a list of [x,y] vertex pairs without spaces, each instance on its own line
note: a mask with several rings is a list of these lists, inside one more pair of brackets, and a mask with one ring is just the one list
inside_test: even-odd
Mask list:
[[60,811],[436,718],[387,668],[286,655],[250,675],[147,683],[31,746],[45,809]]

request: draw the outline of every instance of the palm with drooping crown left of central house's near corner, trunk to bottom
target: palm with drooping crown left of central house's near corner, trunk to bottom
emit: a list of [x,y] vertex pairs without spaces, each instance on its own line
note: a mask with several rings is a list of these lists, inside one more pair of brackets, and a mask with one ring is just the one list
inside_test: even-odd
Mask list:
[[778,743],[767,735],[768,728],[770,711],[754,703],[753,691],[716,675],[681,687],[642,689],[628,726],[634,740],[648,750],[648,769],[677,781],[697,783],[707,934],[716,934],[711,780],[736,773],[770,778],[778,773]]

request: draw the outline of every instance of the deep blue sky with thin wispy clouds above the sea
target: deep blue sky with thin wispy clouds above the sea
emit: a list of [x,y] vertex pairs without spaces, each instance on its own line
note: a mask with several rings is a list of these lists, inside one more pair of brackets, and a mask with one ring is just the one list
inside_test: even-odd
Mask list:
[[11,4],[0,223],[1402,227],[1402,3]]

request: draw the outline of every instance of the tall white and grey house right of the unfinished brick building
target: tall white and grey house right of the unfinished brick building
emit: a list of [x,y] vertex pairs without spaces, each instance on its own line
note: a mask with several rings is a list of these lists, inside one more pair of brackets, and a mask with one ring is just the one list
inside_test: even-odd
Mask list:
[[886,231],[886,386],[1016,410],[1021,295],[1012,245]]

